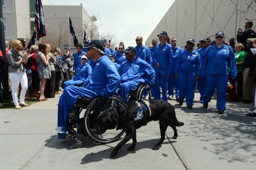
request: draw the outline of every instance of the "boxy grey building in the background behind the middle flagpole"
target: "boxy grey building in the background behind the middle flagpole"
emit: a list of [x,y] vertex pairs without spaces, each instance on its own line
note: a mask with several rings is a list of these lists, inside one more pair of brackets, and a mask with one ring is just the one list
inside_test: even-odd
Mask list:
[[[57,35],[55,38],[55,43],[53,47],[59,46],[61,51],[66,53],[66,48],[69,47],[69,38],[70,36],[70,48],[71,52],[76,52],[76,47],[74,47],[73,39],[69,33],[68,26],[68,13],[72,20],[76,36],[79,43],[83,43],[84,38],[84,28],[87,27],[87,30],[90,30],[91,27],[95,27],[95,24],[92,22],[90,16],[86,13],[83,6],[57,6],[57,5],[45,5],[44,6],[44,22],[46,29],[49,29],[50,32]],[[60,37],[60,23],[63,23],[62,31],[66,31],[64,38],[61,40],[60,44],[58,43]],[[96,28],[98,33],[98,29]],[[88,37],[90,40],[90,38]]]

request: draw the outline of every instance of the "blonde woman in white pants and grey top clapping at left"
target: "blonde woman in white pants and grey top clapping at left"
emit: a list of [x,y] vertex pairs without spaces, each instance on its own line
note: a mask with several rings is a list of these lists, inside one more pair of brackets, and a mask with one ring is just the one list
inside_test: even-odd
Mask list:
[[[24,103],[26,90],[28,88],[28,80],[24,65],[26,65],[28,58],[32,55],[28,55],[28,51],[22,50],[22,43],[19,40],[14,40],[12,49],[6,54],[9,62],[8,74],[12,85],[12,99],[16,109],[20,109],[20,106],[29,106]],[[20,91],[20,103],[18,103],[19,83],[22,87]]]

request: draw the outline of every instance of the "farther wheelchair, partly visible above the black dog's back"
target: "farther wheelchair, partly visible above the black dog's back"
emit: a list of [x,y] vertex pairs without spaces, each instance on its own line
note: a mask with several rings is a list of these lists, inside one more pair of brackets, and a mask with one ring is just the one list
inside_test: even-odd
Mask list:
[[126,95],[125,101],[134,102],[140,100],[152,100],[152,95],[150,90],[146,90],[146,85],[139,83],[134,91],[131,91]]

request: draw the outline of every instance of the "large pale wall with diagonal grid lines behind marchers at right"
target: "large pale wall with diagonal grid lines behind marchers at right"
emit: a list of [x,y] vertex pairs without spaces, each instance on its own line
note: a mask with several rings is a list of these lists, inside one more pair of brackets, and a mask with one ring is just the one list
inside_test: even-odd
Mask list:
[[[244,31],[245,18],[256,18],[256,7],[248,14],[240,14],[238,10],[246,6],[244,0],[176,0],[145,44],[150,45],[161,31],[166,31],[170,38],[176,37],[180,47],[184,47],[190,38],[197,43],[206,37],[214,40],[219,31],[224,32],[228,43],[230,38],[236,39],[238,28]],[[255,31],[256,20],[252,22]]]

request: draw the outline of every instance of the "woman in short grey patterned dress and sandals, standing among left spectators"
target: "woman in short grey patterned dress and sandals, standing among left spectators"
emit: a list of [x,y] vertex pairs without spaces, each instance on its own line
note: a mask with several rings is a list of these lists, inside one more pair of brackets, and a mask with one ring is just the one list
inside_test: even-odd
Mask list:
[[49,65],[49,55],[46,53],[46,44],[40,43],[38,45],[38,53],[36,54],[36,62],[37,62],[37,73],[40,78],[40,97],[39,101],[47,101],[48,99],[44,97],[44,87],[46,84],[46,79],[51,78],[51,70]]

